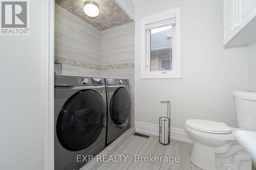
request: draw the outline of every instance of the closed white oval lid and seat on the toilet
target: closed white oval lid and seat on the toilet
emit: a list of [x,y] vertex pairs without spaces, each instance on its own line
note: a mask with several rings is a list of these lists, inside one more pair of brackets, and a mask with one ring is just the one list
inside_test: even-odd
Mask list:
[[207,133],[226,134],[232,131],[225,123],[210,120],[188,119],[185,125],[189,128]]

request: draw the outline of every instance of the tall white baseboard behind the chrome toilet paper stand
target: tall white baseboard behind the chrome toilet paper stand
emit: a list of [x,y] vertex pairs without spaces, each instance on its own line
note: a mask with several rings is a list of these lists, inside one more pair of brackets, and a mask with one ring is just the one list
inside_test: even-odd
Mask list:
[[[146,122],[135,121],[135,128],[137,132],[147,133],[151,135],[159,135],[159,125]],[[179,140],[187,143],[193,143],[193,139],[188,135],[184,129],[170,128],[171,139]]]

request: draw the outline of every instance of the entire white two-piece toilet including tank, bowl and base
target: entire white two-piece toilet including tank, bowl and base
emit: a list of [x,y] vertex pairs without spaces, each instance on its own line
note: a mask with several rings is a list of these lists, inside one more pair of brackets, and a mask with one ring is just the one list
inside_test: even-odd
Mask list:
[[256,131],[256,92],[234,91],[239,128],[203,119],[188,119],[194,138],[191,162],[204,170],[249,170],[251,157],[234,139],[237,130]]

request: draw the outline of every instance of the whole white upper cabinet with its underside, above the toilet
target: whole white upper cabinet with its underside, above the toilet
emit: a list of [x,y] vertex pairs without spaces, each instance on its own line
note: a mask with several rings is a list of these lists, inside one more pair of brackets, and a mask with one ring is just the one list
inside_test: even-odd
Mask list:
[[251,31],[256,29],[255,16],[256,0],[223,0],[224,46],[255,43],[251,37]]

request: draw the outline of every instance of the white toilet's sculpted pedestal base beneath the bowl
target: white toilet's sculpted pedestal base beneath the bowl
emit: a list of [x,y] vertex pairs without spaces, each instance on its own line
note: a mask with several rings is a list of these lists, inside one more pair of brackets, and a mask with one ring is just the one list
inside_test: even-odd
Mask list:
[[195,141],[191,162],[204,170],[250,170],[251,157],[237,142],[212,148]]

